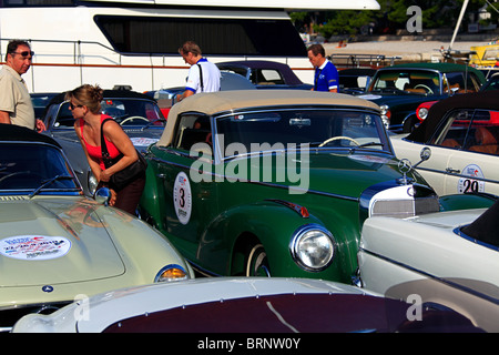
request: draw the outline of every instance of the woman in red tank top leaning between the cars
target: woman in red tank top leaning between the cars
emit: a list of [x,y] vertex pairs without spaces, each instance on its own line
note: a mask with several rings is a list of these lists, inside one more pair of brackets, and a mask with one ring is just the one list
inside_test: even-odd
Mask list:
[[[114,122],[111,116],[101,113],[102,94],[103,90],[99,85],[84,84],[69,91],[65,99],[70,103],[70,110],[75,120],[74,130],[80,139],[92,173],[100,184],[108,185],[111,190],[110,204],[135,214],[144,190],[145,174],[138,175],[121,190],[110,182],[113,174],[138,161],[139,156],[132,141],[123,132],[121,125]],[[106,120],[105,124],[103,124],[104,120]],[[110,158],[115,160],[122,155],[119,161],[108,168],[102,158],[101,128]]]

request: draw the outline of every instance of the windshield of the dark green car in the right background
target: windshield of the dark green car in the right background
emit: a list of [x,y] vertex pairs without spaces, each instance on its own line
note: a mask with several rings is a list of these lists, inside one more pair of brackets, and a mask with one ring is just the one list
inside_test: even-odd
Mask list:
[[369,85],[370,92],[438,94],[440,78],[437,72],[424,70],[379,71]]

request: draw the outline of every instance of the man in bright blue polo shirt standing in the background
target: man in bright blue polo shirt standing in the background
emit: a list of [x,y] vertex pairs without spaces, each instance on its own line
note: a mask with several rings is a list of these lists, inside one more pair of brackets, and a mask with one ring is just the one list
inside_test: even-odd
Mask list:
[[308,60],[315,68],[315,91],[338,92],[338,71],[336,67],[326,59],[326,51],[322,44],[308,47]]

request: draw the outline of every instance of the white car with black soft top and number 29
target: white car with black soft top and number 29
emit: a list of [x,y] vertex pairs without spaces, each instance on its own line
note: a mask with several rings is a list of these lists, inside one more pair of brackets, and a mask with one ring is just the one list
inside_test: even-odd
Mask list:
[[440,194],[499,195],[499,91],[460,94],[435,103],[413,133],[391,136],[399,159],[431,158],[418,172]]

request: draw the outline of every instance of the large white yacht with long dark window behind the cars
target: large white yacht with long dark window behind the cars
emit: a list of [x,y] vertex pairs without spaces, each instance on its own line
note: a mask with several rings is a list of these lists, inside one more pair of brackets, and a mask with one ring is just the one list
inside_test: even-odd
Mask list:
[[[58,3],[57,6],[53,3]],[[272,2],[272,3],[269,3]],[[47,3],[47,4],[44,4]],[[196,41],[208,60],[272,59],[304,82],[312,65],[288,10],[377,10],[376,0],[33,1],[0,4],[0,55],[11,39],[35,52],[24,74],[30,92],[59,92],[83,83],[136,91],[183,85],[189,65],[177,49]]]

